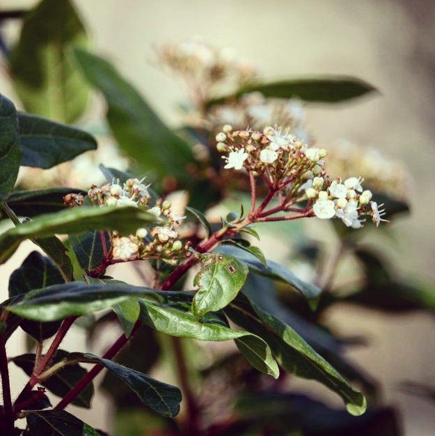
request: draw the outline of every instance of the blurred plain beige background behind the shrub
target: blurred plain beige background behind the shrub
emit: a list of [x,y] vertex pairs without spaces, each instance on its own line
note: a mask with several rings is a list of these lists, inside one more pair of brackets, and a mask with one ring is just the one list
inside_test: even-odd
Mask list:
[[[153,47],[193,36],[221,47],[234,47],[252,61],[265,79],[322,74],[359,77],[379,89],[351,104],[307,107],[307,128],[317,143],[328,146],[347,139],[361,147],[375,146],[404,162],[411,174],[411,214],[395,219],[390,262],[400,277],[435,281],[435,3],[424,0],[75,0],[93,51],[113,61],[168,123],[180,123],[177,102],[184,89],[153,61]],[[30,8],[35,1],[2,0],[0,10]],[[19,21],[3,23],[4,38],[19,35]],[[8,72],[1,65],[1,92],[18,103]],[[96,100],[88,118],[104,114]],[[86,118],[86,117],[85,117]],[[375,164],[375,162],[374,162]],[[113,166],[116,166],[113,164]],[[322,226],[310,230],[315,238],[333,244]],[[385,238],[367,240],[381,248]],[[267,247],[267,241],[274,244]],[[6,298],[8,277],[29,253],[22,246],[1,267],[0,290]],[[272,238],[264,251],[279,260]],[[338,270],[338,280],[346,265]],[[339,304],[326,313],[327,322],[342,336],[364,336],[366,346],[349,350],[349,357],[380,383],[383,403],[398,407],[405,435],[435,434],[435,403],[411,395],[402,383],[413,380],[434,386],[435,335],[433,314],[381,313],[361,306]],[[115,334],[113,334],[113,337]],[[80,341],[80,342],[79,342]],[[66,343],[84,345],[84,334],[74,329]],[[24,352],[24,341],[13,345]],[[22,373],[14,368],[17,392]],[[24,377],[22,377],[24,381]],[[299,381],[301,389],[316,386]],[[322,391],[322,395],[324,391]],[[111,401],[97,393],[95,408],[77,410],[91,425],[109,429]],[[331,404],[339,405],[335,397]]]

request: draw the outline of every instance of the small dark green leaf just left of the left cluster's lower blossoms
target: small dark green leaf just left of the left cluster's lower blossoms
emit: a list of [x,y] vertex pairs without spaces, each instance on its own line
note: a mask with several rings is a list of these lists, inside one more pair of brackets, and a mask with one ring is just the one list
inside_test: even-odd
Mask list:
[[69,240],[79,264],[86,272],[95,270],[104,259],[103,239],[106,249],[110,248],[109,233],[99,230],[71,235]]

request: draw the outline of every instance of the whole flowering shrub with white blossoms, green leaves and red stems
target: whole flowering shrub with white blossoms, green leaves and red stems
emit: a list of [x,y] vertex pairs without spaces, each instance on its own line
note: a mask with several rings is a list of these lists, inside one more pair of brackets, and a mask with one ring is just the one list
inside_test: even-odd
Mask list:
[[[47,73],[40,58],[52,47],[29,33],[45,25],[48,10],[57,10],[49,20],[68,18],[75,29],[63,39],[74,46],[61,59],[65,74],[75,77],[77,72],[68,70],[75,65],[81,76],[73,86],[86,93],[93,86],[104,95],[111,134],[135,161],[138,178],[122,162],[118,169],[100,165],[106,182],[86,190],[15,186],[19,168],[53,168],[97,147],[91,134],[68,125],[84,110],[76,88],[71,95],[77,102],[65,100],[61,111],[59,100],[48,107],[36,104],[26,82],[21,62],[29,50],[35,68]],[[50,34],[59,38],[56,32],[64,27]],[[323,311],[336,301],[378,307],[373,289],[386,296],[383,309],[388,308],[393,285],[399,289],[395,303],[422,309],[425,299],[393,283],[377,257],[358,246],[356,235],[367,229],[367,221],[378,227],[407,209],[400,178],[390,184],[401,194],[392,199],[390,192],[379,192],[388,184],[386,174],[382,182],[382,174],[365,173],[367,168],[356,164],[361,155],[344,163],[336,149],[317,146],[306,132],[303,102],[345,101],[373,88],[340,77],[264,83],[227,49],[198,40],[167,45],[157,52],[158,63],[180,75],[189,94],[185,125],[174,132],[112,65],[83,49],[84,36],[68,1],[42,1],[24,19],[9,59],[13,84],[29,113],[17,111],[5,96],[0,100],[0,201],[3,217],[14,224],[0,235],[0,263],[24,240],[39,247],[10,276],[9,297],[1,304],[2,434],[106,434],[65,411],[70,404],[90,407],[93,380],[103,369],[103,387],[118,412],[141,403],[145,416],[163,416],[155,418],[157,428],[141,421],[141,434],[312,434],[302,419],[311,413],[325,416],[322,425],[334,416],[337,428],[352,434],[354,421],[349,424],[346,413],[364,414],[367,401],[351,382],[372,396],[374,383],[342,355],[343,341],[323,328]],[[63,86],[71,86],[68,77]],[[232,91],[222,95],[226,86]],[[38,93],[46,92],[41,85]],[[62,123],[47,119],[53,113],[65,114]],[[92,161],[88,167],[93,169]],[[398,173],[391,171],[388,180]],[[27,178],[21,187],[31,183]],[[180,189],[189,195],[189,205],[181,208],[171,201]],[[210,208],[234,195],[238,212],[213,219]],[[253,242],[262,235],[262,223],[285,221],[280,238],[288,238],[293,221],[308,219],[330,220],[340,240],[315,281],[303,281],[286,265],[267,260]],[[318,251],[315,246],[317,262]],[[334,293],[332,280],[345,252],[367,273],[362,288],[342,297]],[[303,249],[295,256],[306,260]],[[111,277],[108,268],[119,263],[132,263],[142,286]],[[113,332],[116,325],[122,333],[111,338],[101,357],[87,350],[67,352],[63,338],[78,320],[88,323],[91,340],[97,327],[110,325]],[[18,328],[33,338],[34,352],[11,357],[6,343]],[[198,386],[190,377],[187,339],[234,341],[238,352],[228,347],[216,355],[195,343],[196,357],[209,356]],[[163,348],[175,359],[166,358]],[[176,377],[161,381],[148,375],[159,355],[175,360],[170,373]],[[10,391],[11,363],[29,376],[17,395]],[[290,393],[288,375],[323,384],[342,398],[347,412]],[[172,378],[177,386],[168,384]],[[56,397],[61,400],[52,405]],[[181,418],[172,420],[182,405]],[[379,413],[373,407],[356,426],[370,428]]]

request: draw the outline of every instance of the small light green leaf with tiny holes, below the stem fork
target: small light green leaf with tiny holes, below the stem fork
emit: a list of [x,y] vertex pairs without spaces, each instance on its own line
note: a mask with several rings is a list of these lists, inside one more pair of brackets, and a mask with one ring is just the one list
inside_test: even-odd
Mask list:
[[232,302],[248,275],[248,267],[232,256],[217,254],[207,256],[207,261],[193,279],[193,285],[199,286],[192,304],[196,318],[219,311]]

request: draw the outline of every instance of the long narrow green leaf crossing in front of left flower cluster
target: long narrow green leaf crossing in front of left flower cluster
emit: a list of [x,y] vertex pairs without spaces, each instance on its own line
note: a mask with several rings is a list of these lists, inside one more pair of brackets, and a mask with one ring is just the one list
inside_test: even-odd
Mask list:
[[87,230],[118,230],[134,233],[156,217],[140,208],[86,207],[40,215],[0,235],[0,265],[15,253],[26,239],[47,238],[57,233],[81,233]]

